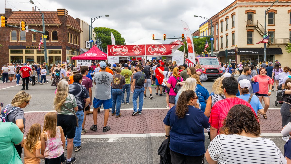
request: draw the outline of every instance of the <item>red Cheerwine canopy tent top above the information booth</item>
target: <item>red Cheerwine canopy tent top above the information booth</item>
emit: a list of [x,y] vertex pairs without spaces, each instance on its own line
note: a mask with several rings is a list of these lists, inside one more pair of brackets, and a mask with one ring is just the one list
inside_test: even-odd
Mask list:
[[72,57],[72,60],[107,60],[107,54],[97,47],[92,47],[86,53]]

